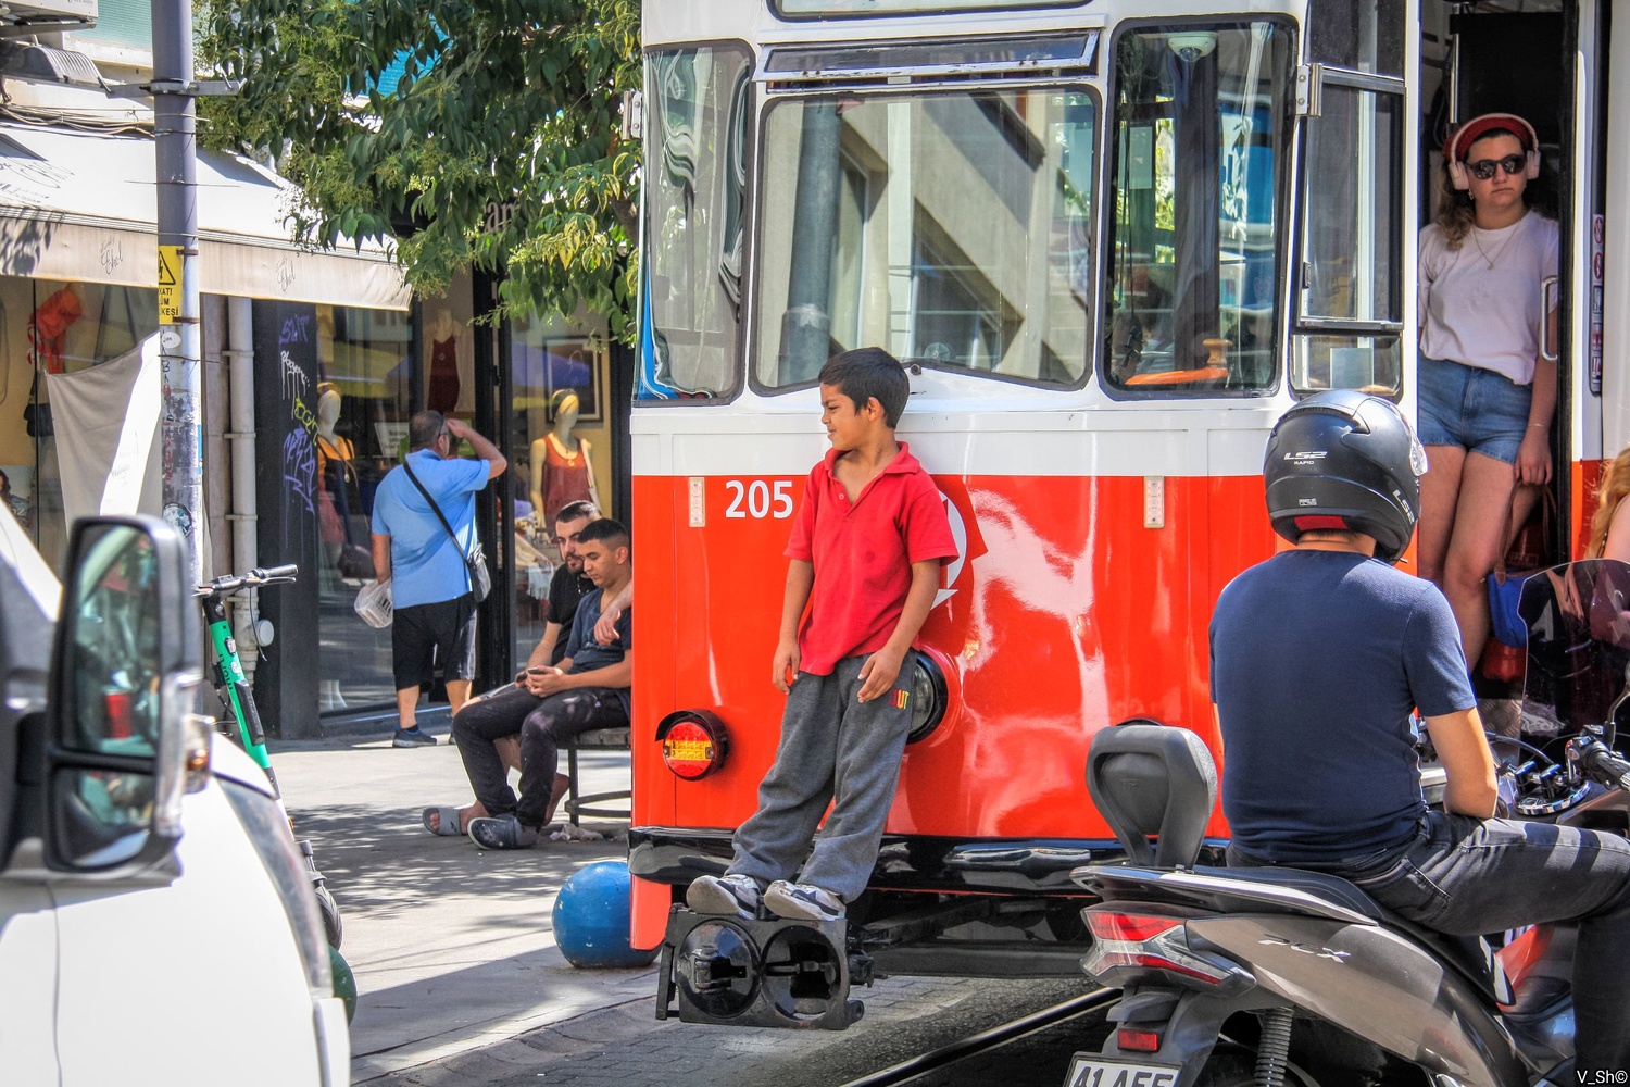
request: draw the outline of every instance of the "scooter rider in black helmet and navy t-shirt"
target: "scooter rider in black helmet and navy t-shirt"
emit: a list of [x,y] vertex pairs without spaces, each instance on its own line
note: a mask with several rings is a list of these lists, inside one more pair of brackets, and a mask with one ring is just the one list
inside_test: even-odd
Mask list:
[[[1341,875],[1460,935],[1576,919],[1576,1071],[1630,1071],[1630,843],[1491,818],[1454,613],[1390,566],[1425,471],[1399,409],[1363,393],[1309,398],[1268,438],[1268,517],[1296,546],[1234,579],[1211,619],[1229,864]],[[1416,707],[1447,771],[1443,812],[1421,799]]]

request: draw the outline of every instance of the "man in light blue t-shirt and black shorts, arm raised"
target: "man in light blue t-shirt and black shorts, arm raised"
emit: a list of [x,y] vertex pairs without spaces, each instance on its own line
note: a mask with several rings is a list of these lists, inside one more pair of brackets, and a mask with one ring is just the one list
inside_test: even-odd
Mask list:
[[[478,460],[453,456],[458,442],[469,442]],[[437,662],[455,714],[469,698],[476,596],[465,556],[476,543],[476,492],[509,464],[496,445],[438,411],[421,411],[408,422],[408,456],[373,492],[373,569],[380,580],[391,580],[399,748],[435,743],[435,737],[419,728],[414,709],[419,688],[432,680]],[[432,499],[440,518],[430,508]]]

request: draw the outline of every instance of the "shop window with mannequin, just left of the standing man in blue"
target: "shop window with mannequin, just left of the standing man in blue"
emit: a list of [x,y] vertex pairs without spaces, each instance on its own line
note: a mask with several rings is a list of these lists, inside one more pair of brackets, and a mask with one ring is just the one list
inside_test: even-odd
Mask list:
[[408,313],[316,308],[323,711],[394,699],[390,627],[370,627],[352,605],[372,567],[373,491],[408,448],[411,329]]

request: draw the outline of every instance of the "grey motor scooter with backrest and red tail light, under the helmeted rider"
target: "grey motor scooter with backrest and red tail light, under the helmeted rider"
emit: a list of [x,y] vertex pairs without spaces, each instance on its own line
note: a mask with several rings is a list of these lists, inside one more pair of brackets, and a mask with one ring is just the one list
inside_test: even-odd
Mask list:
[[[1521,732],[1491,737],[1513,818],[1630,831],[1630,761],[1615,751],[1627,598],[1630,566],[1604,559],[1524,583]],[[1094,737],[1087,786],[1126,860],[1071,878],[1102,900],[1082,909],[1082,968],[1121,996],[1115,1032],[1073,1058],[1066,1087],[1578,1087],[1575,926],[1534,926],[1495,950],[1335,875],[1196,864],[1216,784],[1185,728],[1134,720]]]

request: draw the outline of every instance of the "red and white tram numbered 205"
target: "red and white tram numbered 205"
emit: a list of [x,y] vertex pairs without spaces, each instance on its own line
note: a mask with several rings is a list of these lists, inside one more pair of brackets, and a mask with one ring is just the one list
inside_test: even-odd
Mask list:
[[1553,549],[1576,551],[1630,438],[1604,367],[1630,311],[1623,7],[649,2],[634,944],[722,870],[774,756],[782,549],[835,350],[908,362],[900,433],[962,543],[851,909],[888,971],[1074,973],[1066,874],[1115,847],[1087,745],[1146,717],[1218,750],[1206,626],[1275,548],[1268,429],[1332,386],[1413,414],[1416,230],[1447,125],[1480,112],[1534,122],[1562,222]]

